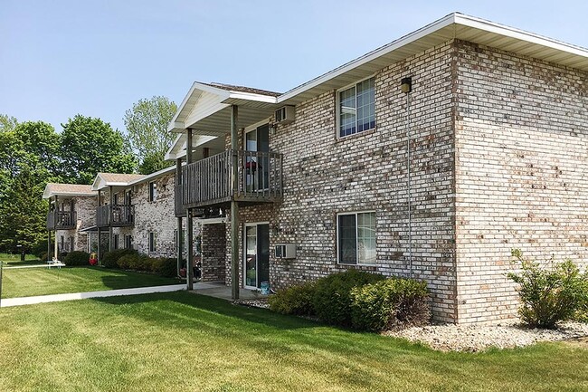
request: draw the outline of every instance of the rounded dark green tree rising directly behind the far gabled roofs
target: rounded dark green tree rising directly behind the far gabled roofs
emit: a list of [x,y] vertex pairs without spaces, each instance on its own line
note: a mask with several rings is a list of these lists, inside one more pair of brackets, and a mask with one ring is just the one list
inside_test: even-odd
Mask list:
[[80,114],[63,125],[62,177],[71,184],[91,184],[99,172],[132,173],[137,160],[119,130]]

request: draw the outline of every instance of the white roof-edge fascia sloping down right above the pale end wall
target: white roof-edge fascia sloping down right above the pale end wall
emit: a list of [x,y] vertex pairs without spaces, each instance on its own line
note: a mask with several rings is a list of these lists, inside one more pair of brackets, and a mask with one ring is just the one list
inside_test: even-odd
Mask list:
[[588,57],[588,49],[585,49],[581,46],[576,46],[570,43],[563,43],[549,37],[545,37],[536,33],[528,33],[526,31],[519,30],[514,27],[508,27],[503,24],[495,24],[493,22],[479,19],[474,16],[455,14],[455,23],[483,30],[488,33],[496,33],[498,35],[515,38],[527,43],[536,43],[548,48],[555,49],[557,51]]

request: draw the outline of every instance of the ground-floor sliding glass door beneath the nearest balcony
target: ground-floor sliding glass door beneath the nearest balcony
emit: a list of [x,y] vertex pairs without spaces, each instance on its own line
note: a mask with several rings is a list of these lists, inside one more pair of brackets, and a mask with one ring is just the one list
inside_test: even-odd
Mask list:
[[259,289],[270,281],[270,225],[245,225],[244,286]]

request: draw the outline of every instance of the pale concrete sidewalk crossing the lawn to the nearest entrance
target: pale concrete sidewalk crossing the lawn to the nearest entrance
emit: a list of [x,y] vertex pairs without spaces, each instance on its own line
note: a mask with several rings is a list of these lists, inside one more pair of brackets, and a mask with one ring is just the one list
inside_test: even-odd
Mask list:
[[185,290],[185,284],[138,287],[136,289],[108,290],[104,292],[72,292],[68,294],[39,295],[36,297],[6,298],[0,301],[0,308],[7,308],[10,306],[33,305],[34,303],[86,300],[89,298],[117,297],[119,295],[149,294],[152,292],[179,292],[181,290]]

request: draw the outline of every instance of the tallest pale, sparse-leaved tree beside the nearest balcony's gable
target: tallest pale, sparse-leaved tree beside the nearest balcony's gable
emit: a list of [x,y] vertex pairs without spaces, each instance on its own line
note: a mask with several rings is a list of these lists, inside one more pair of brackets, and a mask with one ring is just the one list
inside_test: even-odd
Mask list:
[[[164,156],[175,135],[167,131],[177,106],[166,97],[139,100],[125,112],[125,127],[131,147],[141,162],[141,173],[150,174],[166,167]],[[157,158],[158,157],[158,158]]]

